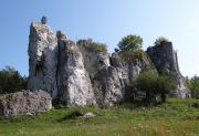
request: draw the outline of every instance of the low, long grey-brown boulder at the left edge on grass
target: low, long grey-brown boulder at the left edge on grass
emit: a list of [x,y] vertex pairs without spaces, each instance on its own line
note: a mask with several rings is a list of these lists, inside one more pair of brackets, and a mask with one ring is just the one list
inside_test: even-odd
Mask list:
[[49,93],[38,91],[22,91],[0,96],[0,117],[18,115],[35,115],[52,108]]

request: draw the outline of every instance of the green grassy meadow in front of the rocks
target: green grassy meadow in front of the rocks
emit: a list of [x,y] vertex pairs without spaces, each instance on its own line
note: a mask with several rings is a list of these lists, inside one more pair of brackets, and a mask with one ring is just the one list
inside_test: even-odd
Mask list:
[[[94,118],[71,117],[93,112]],[[125,103],[109,108],[52,109],[0,121],[0,136],[199,136],[199,101],[169,100],[156,107]]]

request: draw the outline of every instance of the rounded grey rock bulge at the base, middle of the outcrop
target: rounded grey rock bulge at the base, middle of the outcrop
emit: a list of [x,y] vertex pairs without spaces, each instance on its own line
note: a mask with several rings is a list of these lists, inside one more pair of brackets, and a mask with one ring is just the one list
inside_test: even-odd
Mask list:
[[104,67],[93,79],[93,90],[98,106],[114,106],[124,101],[124,82],[117,69]]

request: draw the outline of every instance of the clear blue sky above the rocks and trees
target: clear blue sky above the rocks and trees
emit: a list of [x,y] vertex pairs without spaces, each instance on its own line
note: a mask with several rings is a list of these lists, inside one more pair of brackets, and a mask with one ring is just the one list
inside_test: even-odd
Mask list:
[[54,33],[72,40],[92,38],[113,52],[127,34],[172,41],[184,75],[199,75],[199,0],[1,0],[0,69],[14,66],[29,74],[29,27],[46,15]]

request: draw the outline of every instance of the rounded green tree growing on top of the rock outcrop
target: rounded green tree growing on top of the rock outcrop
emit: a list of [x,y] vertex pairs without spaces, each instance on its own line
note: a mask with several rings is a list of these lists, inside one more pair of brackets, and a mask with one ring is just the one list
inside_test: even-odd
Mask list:
[[139,35],[127,35],[118,43],[119,51],[136,51],[143,45],[143,39]]

